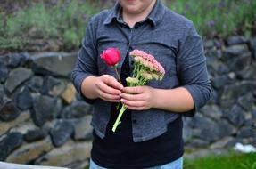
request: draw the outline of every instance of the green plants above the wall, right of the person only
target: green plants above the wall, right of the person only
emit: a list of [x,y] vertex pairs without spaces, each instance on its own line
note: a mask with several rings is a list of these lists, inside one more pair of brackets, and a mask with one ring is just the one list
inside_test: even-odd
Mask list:
[[167,4],[194,21],[202,36],[252,36],[255,30],[255,0],[172,0]]

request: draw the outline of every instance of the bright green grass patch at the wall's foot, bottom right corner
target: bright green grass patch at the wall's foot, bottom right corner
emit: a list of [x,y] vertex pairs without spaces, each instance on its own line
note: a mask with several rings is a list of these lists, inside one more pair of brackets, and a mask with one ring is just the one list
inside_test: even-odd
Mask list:
[[185,160],[184,169],[256,169],[256,153],[210,156]]

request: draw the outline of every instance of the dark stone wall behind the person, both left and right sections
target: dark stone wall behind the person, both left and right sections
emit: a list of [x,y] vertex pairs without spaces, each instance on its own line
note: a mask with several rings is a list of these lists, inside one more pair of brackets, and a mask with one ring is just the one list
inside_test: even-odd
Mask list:
[[[204,42],[214,89],[184,117],[186,149],[256,144],[256,38]],[[0,160],[83,168],[91,149],[91,106],[70,82],[76,53],[0,56]]]

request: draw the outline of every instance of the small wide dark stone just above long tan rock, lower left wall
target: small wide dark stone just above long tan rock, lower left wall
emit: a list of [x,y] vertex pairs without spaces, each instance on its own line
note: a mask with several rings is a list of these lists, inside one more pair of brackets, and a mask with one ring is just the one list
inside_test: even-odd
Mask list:
[[42,128],[37,128],[34,130],[29,130],[25,135],[24,135],[24,140],[31,142],[31,141],[38,141],[41,139],[44,139],[49,132],[48,127],[42,127]]

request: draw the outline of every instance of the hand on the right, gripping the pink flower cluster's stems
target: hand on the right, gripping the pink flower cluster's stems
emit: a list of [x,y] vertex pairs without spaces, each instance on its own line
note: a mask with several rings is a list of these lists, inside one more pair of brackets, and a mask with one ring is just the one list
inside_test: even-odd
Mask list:
[[155,89],[150,86],[125,87],[120,93],[121,102],[134,110],[151,109],[155,106]]

